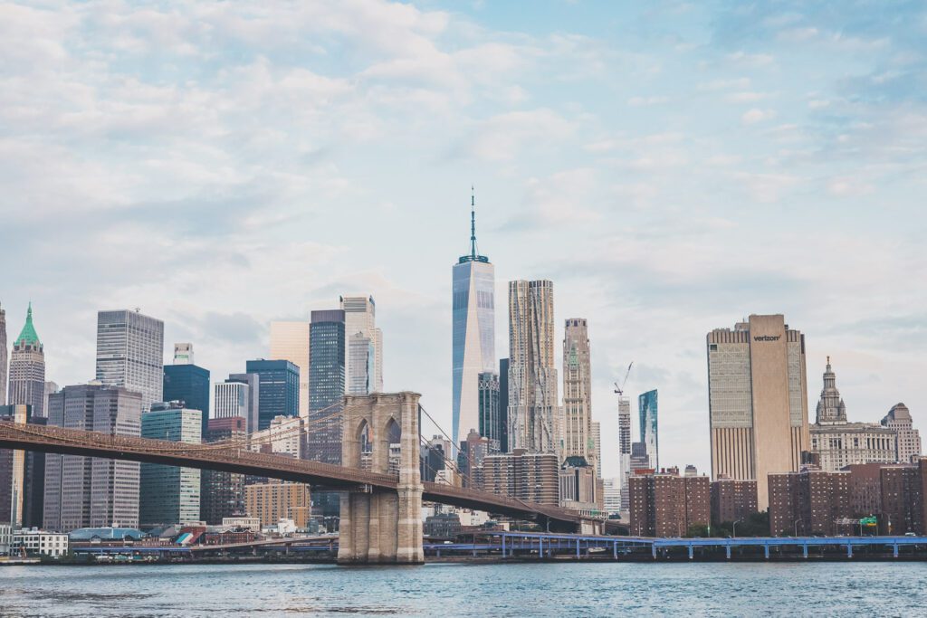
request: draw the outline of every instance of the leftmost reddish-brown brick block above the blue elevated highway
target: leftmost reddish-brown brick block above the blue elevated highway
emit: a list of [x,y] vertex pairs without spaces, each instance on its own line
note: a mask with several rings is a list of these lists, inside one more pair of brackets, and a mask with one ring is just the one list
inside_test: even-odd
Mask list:
[[633,536],[686,536],[711,522],[707,476],[680,476],[678,468],[635,473],[629,479]]

